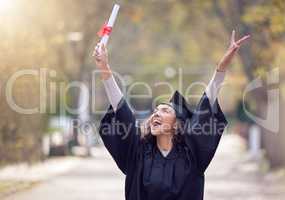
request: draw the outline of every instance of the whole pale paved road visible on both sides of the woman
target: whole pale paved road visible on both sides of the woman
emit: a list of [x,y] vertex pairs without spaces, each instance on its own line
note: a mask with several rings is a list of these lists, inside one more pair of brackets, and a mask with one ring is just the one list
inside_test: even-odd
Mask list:
[[[281,200],[285,184],[264,180],[256,165],[242,162],[242,143],[234,136],[223,138],[206,177],[205,199]],[[84,159],[76,169],[6,200],[123,200],[124,177],[104,148]]]

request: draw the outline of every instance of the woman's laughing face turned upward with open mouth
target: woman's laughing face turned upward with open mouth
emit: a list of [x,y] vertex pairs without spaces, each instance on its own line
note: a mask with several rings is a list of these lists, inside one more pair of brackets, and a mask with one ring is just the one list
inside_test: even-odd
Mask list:
[[153,111],[149,123],[151,134],[154,136],[174,134],[175,110],[167,104],[160,104]]

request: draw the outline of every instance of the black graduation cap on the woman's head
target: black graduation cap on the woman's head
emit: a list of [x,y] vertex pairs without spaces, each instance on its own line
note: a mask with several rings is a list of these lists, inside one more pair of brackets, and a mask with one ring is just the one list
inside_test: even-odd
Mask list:
[[193,112],[191,111],[191,106],[177,90],[174,92],[169,102],[170,103],[163,104],[171,106],[175,110],[176,117],[180,120],[185,121],[192,117]]

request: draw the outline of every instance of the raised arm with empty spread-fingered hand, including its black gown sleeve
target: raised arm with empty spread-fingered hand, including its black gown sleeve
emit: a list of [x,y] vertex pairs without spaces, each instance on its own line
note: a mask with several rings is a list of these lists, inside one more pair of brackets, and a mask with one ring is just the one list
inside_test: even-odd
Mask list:
[[211,162],[227,125],[227,120],[217,100],[219,89],[235,52],[248,38],[249,36],[245,36],[235,42],[235,31],[233,31],[230,47],[217,66],[216,72],[191,118],[191,129],[188,133],[190,135],[186,137],[186,143],[193,149],[198,169],[202,173]]

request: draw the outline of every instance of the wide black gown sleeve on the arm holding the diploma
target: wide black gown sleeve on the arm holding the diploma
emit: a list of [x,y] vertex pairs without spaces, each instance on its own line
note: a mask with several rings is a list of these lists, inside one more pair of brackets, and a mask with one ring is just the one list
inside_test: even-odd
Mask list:
[[140,136],[135,116],[124,97],[115,111],[110,105],[101,120],[99,134],[120,170],[127,174],[130,165],[135,163]]

